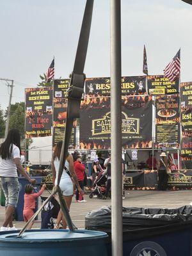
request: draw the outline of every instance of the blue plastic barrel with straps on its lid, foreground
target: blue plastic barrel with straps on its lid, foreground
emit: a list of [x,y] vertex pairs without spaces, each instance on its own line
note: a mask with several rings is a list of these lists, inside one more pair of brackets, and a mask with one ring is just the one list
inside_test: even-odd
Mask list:
[[107,256],[104,232],[91,230],[27,230],[0,233],[0,255],[6,256]]

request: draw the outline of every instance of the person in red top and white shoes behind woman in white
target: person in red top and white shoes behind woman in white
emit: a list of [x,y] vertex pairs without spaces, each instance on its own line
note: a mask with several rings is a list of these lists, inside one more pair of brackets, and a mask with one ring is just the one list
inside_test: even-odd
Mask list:
[[[77,160],[74,162],[74,169],[76,171],[77,179],[79,182],[80,188],[84,188],[84,165],[81,163],[81,156],[77,156]],[[79,198],[79,191],[76,189],[76,202],[85,203],[83,196]]]

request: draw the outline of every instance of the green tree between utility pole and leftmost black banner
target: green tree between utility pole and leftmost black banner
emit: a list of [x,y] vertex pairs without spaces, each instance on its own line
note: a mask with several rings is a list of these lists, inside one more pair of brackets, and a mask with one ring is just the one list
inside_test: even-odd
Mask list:
[[19,129],[21,138],[24,138],[25,108],[24,102],[11,104],[9,129]]

